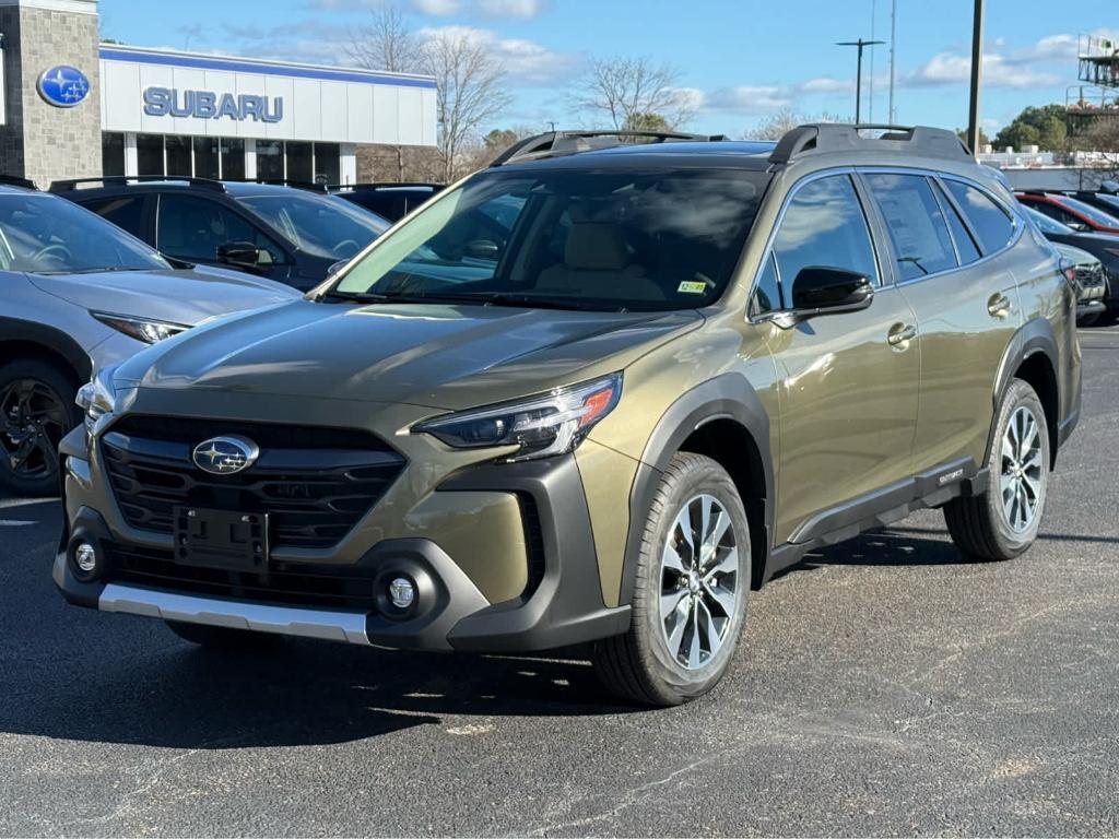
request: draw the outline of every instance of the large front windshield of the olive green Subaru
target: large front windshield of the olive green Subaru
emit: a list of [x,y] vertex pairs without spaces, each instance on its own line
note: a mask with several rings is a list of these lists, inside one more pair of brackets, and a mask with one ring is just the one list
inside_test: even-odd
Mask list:
[[769,180],[734,170],[488,171],[350,267],[335,295],[659,311],[714,302]]

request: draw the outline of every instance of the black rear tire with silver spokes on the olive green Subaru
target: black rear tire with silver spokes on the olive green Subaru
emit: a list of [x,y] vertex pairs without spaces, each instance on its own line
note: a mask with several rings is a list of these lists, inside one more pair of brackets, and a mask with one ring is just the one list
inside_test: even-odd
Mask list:
[[[1012,421],[1019,411],[1028,412],[1036,423],[1036,450],[1023,461],[1035,462],[1035,470],[1027,470],[1031,481],[1038,489],[1028,492],[1031,481],[1019,480],[1026,494],[1021,497],[1016,491],[1003,486],[1004,473],[1017,462],[1013,456],[1004,456],[1004,439]],[[1013,443],[1010,444],[1013,447]],[[990,454],[987,458],[987,490],[980,496],[957,498],[944,505],[944,521],[956,546],[975,559],[1013,559],[1025,553],[1037,538],[1037,527],[1045,512],[1045,497],[1050,473],[1050,439],[1045,423],[1045,409],[1034,389],[1022,379],[1014,379],[1003,395],[998,408],[998,422],[995,424],[995,435],[990,442]],[[1007,479],[1014,486],[1013,477]],[[1022,499],[1035,499],[1033,516],[1026,526],[1022,527],[1018,513],[1024,509]],[[1009,501],[1007,501],[1009,498]],[[1024,513],[1023,513],[1024,516]],[[1012,518],[1015,522],[1012,524]]]

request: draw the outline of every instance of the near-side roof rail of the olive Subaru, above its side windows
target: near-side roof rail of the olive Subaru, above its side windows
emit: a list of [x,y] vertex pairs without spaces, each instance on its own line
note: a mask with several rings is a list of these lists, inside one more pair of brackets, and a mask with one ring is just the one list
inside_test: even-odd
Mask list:
[[[880,136],[863,136],[861,131],[884,131]],[[968,147],[948,129],[928,125],[886,125],[850,123],[815,123],[798,125],[778,142],[771,163],[788,163],[801,154],[841,151],[904,152],[927,158],[974,161]]]

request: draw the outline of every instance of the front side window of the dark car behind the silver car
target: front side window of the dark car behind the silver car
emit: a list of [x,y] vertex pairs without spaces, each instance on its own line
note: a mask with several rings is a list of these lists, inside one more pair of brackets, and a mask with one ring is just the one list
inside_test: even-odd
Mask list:
[[236,213],[209,198],[162,194],[156,224],[156,247],[162,253],[191,262],[216,262],[218,245],[251,242],[284,261],[283,251]]

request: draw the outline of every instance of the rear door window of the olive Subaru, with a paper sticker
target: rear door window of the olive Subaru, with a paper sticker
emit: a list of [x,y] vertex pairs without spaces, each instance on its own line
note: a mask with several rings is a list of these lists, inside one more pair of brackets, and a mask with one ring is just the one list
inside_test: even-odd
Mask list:
[[871,173],[866,182],[882,209],[902,280],[956,267],[948,224],[922,175]]

